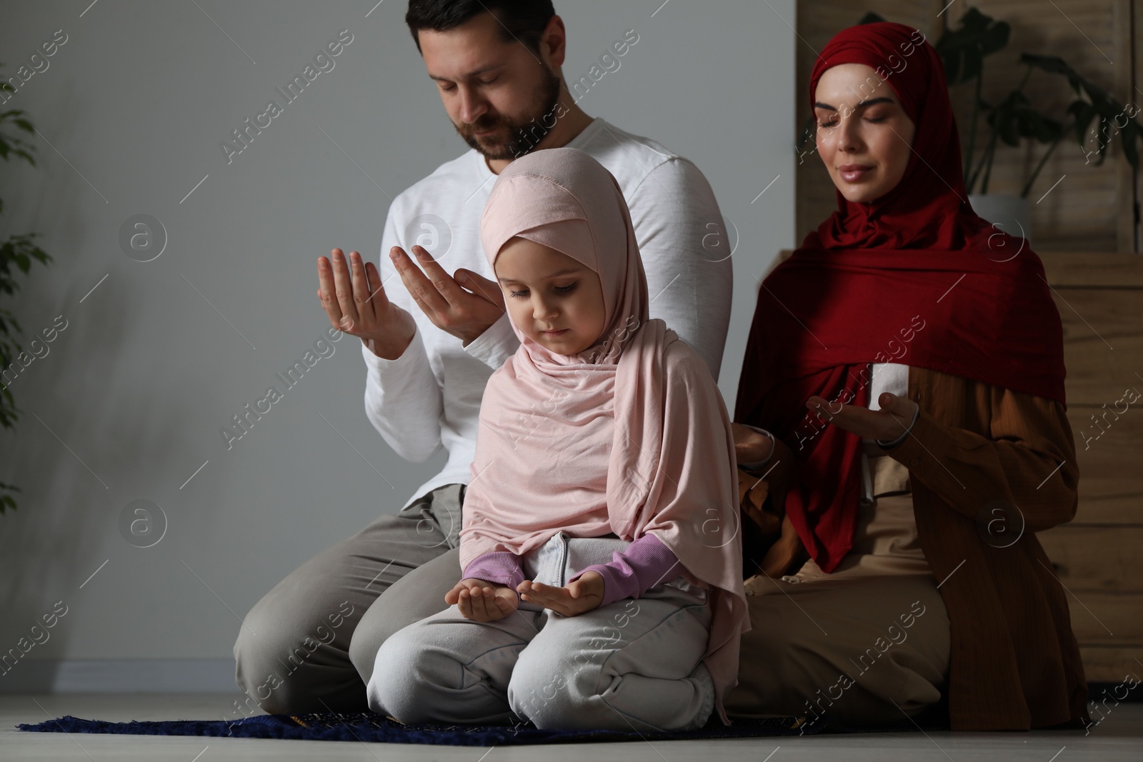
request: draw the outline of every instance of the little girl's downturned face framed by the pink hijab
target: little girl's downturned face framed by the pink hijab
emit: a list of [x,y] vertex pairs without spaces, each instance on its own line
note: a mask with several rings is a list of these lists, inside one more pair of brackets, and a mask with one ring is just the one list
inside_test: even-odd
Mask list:
[[512,238],[496,257],[509,318],[525,336],[557,354],[578,354],[604,332],[599,275],[572,257]]

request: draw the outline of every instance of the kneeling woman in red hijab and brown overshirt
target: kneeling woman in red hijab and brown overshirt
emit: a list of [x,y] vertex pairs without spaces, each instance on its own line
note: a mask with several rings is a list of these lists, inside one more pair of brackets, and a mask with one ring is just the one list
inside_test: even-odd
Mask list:
[[1034,535],[1073,518],[1079,479],[1040,259],[973,212],[919,31],[839,33],[810,104],[838,211],[759,290],[736,441],[786,531],[748,559],[753,629],[727,711],[1086,722],[1065,592]]

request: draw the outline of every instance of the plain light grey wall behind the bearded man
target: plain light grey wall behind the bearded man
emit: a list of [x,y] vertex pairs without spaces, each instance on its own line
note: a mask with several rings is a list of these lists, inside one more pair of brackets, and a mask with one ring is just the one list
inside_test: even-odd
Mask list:
[[[224,664],[263,593],[442,463],[405,463],[374,431],[352,337],[233,449],[219,433],[328,328],[315,258],[376,259],[386,194],[466,147],[406,3],[89,1],[6,3],[0,26],[5,77],[67,38],[0,106],[27,112],[40,165],[3,165],[0,234],[38,231],[55,257],[14,311],[25,342],[66,321],[13,382],[24,415],[0,433],[0,481],[24,489],[0,516],[0,652],[57,601],[66,613],[0,690],[42,673],[35,660]],[[757,279],[793,244],[793,1],[661,3],[557,0],[563,74],[638,32],[580,105],[694,160],[736,228],[733,409]],[[353,38],[335,67],[227,165],[219,143],[341,30]],[[139,214],[168,239],[145,263],[120,246]],[[121,531],[135,500],[166,516],[152,547]]]

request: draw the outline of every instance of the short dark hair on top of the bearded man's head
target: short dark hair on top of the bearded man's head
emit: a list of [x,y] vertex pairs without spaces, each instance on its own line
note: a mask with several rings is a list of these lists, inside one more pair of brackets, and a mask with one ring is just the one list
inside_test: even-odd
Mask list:
[[405,23],[419,51],[419,30],[447,32],[486,11],[499,21],[497,30],[502,42],[519,40],[537,56],[539,37],[555,15],[551,0],[409,0]]

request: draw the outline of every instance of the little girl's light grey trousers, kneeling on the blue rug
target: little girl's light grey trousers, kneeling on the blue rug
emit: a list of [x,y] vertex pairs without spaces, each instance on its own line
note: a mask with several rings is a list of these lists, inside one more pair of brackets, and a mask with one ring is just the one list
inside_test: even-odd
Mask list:
[[[522,556],[525,576],[562,586],[628,545],[559,532]],[[701,728],[714,705],[702,663],[710,623],[708,591],[681,576],[574,617],[520,601],[514,613],[481,623],[454,604],[385,640],[369,707],[405,723]]]

